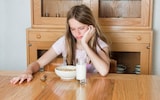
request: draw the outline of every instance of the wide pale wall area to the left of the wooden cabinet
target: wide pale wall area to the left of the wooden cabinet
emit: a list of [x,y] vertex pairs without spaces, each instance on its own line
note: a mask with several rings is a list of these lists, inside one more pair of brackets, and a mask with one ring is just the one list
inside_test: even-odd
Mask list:
[[30,0],[0,0],[0,12],[0,70],[24,70]]

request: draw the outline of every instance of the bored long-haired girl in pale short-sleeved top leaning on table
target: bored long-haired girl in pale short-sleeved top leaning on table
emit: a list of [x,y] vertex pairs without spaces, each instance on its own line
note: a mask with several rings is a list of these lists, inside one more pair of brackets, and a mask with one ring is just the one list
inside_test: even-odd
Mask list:
[[106,76],[110,68],[109,45],[101,32],[91,10],[85,5],[76,5],[67,14],[66,34],[37,61],[28,65],[20,76],[11,79],[12,84],[30,82],[32,74],[50,63],[58,55],[66,58],[68,65],[75,59],[87,59],[87,71]]

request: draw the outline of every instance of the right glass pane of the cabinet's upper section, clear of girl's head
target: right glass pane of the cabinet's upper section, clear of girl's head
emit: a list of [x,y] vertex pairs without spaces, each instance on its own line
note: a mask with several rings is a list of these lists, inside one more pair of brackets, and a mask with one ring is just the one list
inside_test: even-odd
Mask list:
[[99,0],[100,18],[140,18],[142,0]]

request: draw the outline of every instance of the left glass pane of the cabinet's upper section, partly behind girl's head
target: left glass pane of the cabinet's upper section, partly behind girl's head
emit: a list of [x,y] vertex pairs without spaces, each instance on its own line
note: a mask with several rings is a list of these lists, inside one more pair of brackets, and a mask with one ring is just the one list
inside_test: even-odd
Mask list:
[[84,0],[41,0],[42,16],[66,17],[68,10],[72,6],[82,4],[83,2]]

